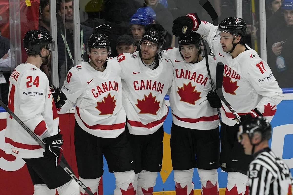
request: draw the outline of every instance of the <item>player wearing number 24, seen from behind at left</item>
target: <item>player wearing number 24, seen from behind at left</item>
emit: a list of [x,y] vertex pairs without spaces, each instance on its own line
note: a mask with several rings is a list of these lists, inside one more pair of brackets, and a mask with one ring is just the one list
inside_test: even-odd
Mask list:
[[[28,58],[9,78],[8,108],[38,137],[46,149],[7,113],[5,153],[23,158],[34,184],[35,195],[78,195],[79,185],[58,164],[62,156],[62,135],[49,81],[40,70],[48,63],[54,42],[47,31],[28,31],[23,39]],[[59,142],[62,144],[54,144]],[[62,159],[65,164],[65,158]]]

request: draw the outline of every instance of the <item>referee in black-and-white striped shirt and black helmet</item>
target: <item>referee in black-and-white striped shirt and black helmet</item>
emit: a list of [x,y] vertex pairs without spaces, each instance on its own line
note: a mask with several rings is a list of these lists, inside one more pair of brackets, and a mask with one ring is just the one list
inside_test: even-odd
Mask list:
[[292,175],[285,162],[269,148],[271,136],[271,125],[262,116],[245,120],[239,126],[238,141],[244,153],[254,159],[248,170],[250,195],[292,195]]

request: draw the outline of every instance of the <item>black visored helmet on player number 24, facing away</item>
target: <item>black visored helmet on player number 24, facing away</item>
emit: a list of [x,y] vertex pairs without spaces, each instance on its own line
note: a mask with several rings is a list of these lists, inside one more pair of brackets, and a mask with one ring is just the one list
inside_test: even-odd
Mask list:
[[30,30],[24,35],[23,47],[28,55],[40,55],[42,48],[55,51],[55,42],[47,31]]

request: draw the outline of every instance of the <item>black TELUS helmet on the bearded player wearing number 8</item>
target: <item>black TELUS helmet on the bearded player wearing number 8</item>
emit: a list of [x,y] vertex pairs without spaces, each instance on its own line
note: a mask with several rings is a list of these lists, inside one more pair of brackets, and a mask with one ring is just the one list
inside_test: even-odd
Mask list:
[[88,39],[88,55],[91,52],[91,48],[100,49],[107,48],[109,55],[111,54],[110,41],[105,34],[92,34]]

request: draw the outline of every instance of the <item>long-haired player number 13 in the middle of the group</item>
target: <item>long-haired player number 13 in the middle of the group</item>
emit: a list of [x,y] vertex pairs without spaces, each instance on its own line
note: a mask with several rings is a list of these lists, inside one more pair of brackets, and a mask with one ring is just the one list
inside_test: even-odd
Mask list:
[[173,76],[172,64],[161,50],[163,31],[158,24],[147,26],[139,51],[117,57],[138,195],[153,194],[162,168],[163,122],[168,114],[164,97]]

